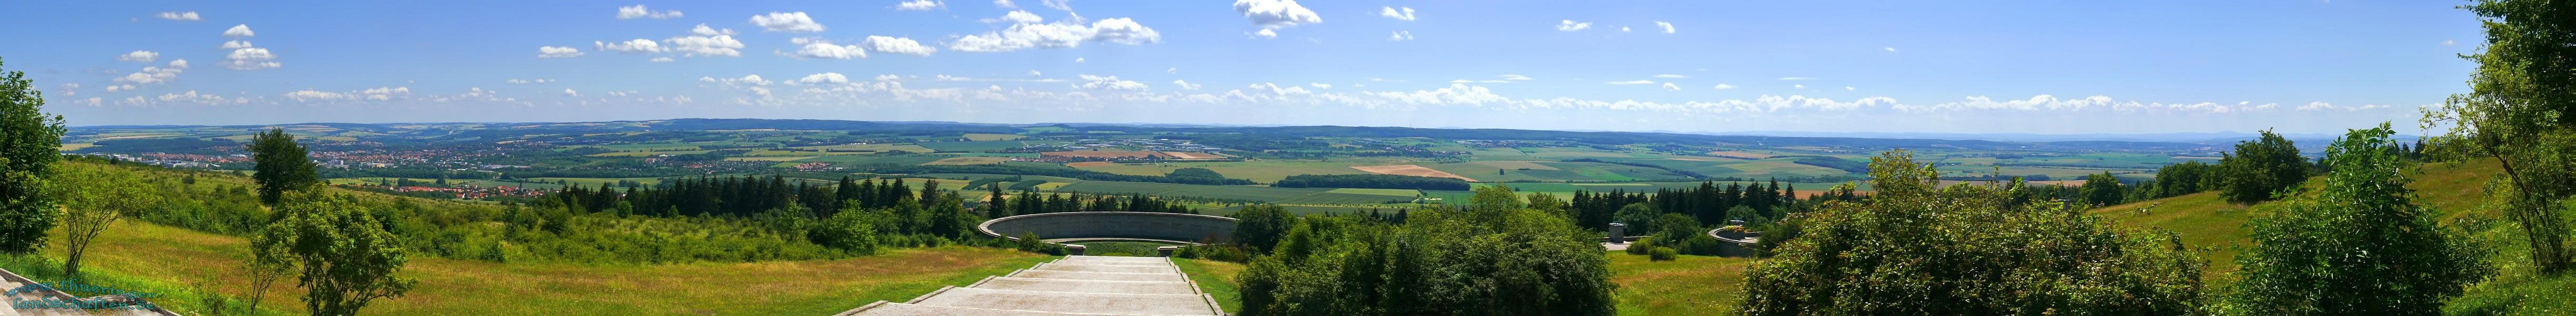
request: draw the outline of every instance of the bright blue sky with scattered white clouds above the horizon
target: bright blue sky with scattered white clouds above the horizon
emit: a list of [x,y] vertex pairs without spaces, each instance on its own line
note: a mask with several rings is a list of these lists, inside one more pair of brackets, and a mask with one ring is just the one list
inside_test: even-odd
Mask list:
[[75,126],[2318,134],[2414,126],[2416,108],[2463,92],[2473,64],[2458,54],[2481,36],[2452,5],[15,3],[0,13],[0,69],[28,72]]

